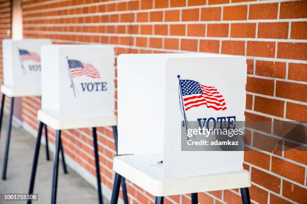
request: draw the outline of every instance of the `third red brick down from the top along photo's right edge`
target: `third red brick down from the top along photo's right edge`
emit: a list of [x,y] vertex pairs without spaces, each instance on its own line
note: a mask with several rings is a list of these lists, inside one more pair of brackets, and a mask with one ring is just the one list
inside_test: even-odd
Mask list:
[[307,60],[307,43],[278,42],[277,57]]

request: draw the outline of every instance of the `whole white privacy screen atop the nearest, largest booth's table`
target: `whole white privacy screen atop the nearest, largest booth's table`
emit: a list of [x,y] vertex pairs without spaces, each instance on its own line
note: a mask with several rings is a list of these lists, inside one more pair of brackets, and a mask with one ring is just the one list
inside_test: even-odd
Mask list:
[[[181,125],[184,116],[190,121],[228,116],[245,120],[245,57],[122,54],[117,63],[118,154],[157,153],[157,161],[164,161],[157,170],[165,179],[242,169],[243,151],[182,151]],[[198,87],[202,92],[217,89],[224,100],[185,98],[194,93],[202,97],[196,94]]]

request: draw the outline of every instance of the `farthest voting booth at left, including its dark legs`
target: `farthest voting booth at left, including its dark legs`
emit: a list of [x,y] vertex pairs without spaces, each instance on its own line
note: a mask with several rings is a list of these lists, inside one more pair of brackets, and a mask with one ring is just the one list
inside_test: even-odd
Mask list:
[[[7,177],[14,98],[41,95],[41,46],[43,44],[51,44],[51,40],[4,39],[2,41],[4,83],[1,85],[2,101],[0,110],[0,132],[5,97],[10,97],[9,122],[2,171],[3,180]],[[46,136],[46,144],[47,143]],[[48,145],[46,145],[46,149],[48,149]],[[47,160],[49,160],[48,150],[46,152]]]

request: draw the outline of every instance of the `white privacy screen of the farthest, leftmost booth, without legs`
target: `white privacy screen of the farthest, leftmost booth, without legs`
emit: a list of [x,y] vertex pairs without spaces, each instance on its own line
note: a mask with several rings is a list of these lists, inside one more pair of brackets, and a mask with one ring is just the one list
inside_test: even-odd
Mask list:
[[41,46],[48,39],[3,40],[4,85],[39,93],[41,90]]

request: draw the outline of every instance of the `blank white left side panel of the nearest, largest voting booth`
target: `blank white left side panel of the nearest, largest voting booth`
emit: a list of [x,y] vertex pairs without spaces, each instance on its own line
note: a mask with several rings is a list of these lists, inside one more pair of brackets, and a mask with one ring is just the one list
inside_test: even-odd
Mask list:
[[118,153],[162,153],[165,54],[121,54]]

